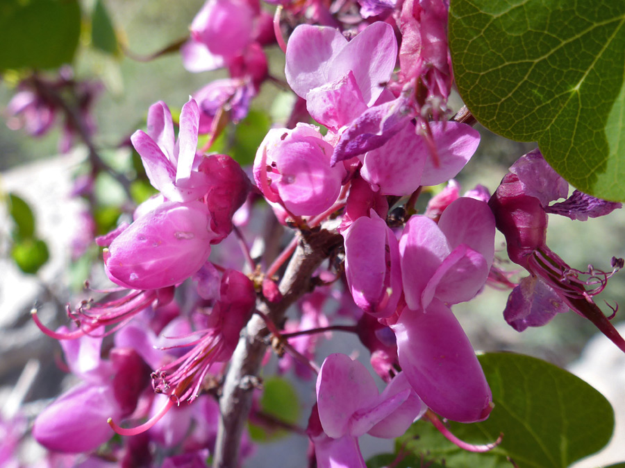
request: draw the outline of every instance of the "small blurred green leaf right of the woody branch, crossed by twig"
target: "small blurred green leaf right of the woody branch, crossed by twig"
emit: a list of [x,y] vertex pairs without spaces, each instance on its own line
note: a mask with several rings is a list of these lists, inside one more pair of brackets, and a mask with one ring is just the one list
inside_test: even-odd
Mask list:
[[[299,399],[292,383],[280,377],[269,377],[263,383],[263,397],[260,399],[260,410],[278,422],[296,424],[299,419]],[[281,430],[267,430],[271,422],[250,424],[250,435],[254,440],[267,442],[283,437],[288,433]]]

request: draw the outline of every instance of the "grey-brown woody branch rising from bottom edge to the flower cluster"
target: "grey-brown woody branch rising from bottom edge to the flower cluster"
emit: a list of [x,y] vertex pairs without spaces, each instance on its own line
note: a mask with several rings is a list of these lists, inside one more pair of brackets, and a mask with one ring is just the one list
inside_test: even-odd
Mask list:
[[[313,273],[341,243],[342,237],[334,229],[301,236],[278,286],[283,299],[276,303],[259,299],[256,308],[274,323],[280,323],[289,306],[310,291]],[[239,466],[241,435],[249,416],[254,383],[258,382],[260,364],[267,349],[263,338],[268,334],[265,321],[259,315],[253,315],[241,332],[219,401],[221,415],[213,468]]]

